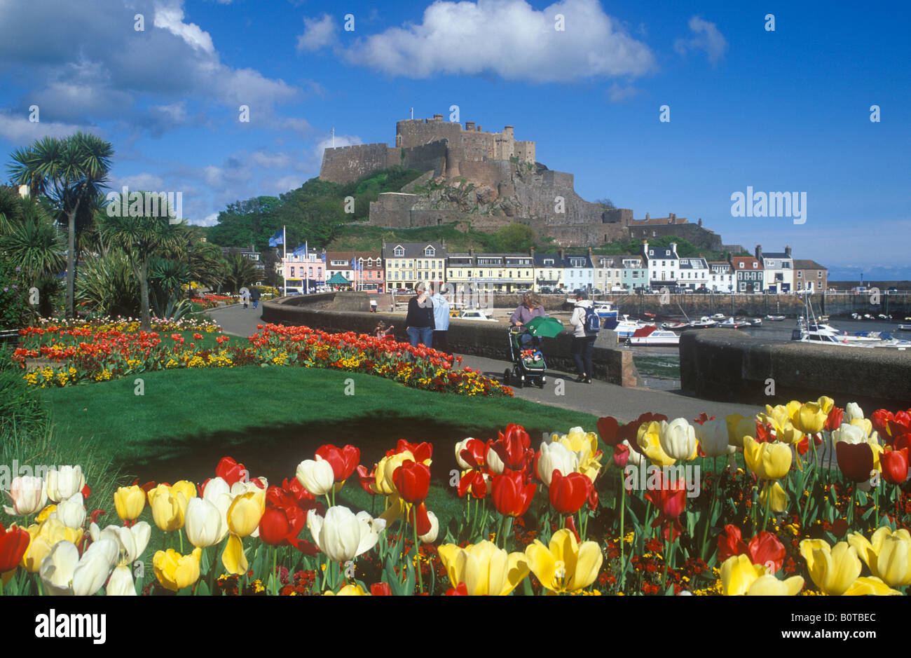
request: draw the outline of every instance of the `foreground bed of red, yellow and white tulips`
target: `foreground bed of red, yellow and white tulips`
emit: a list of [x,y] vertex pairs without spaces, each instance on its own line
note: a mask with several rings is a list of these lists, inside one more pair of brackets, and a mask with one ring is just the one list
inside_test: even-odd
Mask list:
[[[81,469],[64,467],[14,479],[6,512],[25,528],[0,528],[0,572],[8,593],[902,594],[909,442],[911,413],[865,418],[829,398],[606,416],[537,450],[510,425],[455,445],[465,512],[446,528],[426,508],[428,443],[400,440],[370,468],[357,447],[324,445],[281,486],[223,458],[199,485],[119,488],[122,525],[105,529]],[[336,505],[345,486],[372,511]],[[134,581],[153,531],[154,580]]]

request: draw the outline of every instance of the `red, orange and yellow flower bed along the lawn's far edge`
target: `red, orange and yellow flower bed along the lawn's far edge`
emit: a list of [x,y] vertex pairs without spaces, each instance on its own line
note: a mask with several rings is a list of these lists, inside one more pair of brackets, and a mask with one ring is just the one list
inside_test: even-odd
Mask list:
[[[156,322],[143,332],[127,319],[45,323],[19,332],[13,358],[31,386],[69,386],[172,368],[300,365],[379,375],[405,386],[464,396],[512,396],[460,356],[364,334],[327,334],[310,327],[258,324],[248,344],[230,343],[211,322]],[[214,344],[211,336],[215,336]],[[207,338],[207,336],[209,336]]]

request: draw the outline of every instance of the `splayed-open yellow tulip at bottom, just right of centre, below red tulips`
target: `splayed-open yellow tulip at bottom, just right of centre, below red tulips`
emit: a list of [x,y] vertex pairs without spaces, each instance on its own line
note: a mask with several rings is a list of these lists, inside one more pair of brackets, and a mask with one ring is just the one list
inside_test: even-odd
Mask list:
[[594,541],[578,544],[568,529],[559,529],[545,546],[540,540],[525,550],[528,569],[550,591],[578,591],[598,578],[604,560]]

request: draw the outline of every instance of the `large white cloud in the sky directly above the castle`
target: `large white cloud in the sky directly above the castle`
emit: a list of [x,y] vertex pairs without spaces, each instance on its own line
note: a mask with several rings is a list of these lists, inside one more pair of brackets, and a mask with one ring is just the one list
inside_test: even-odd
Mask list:
[[[557,15],[564,16],[564,30]],[[353,65],[430,77],[494,72],[507,79],[565,82],[639,76],[654,67],[648,46],[597,0],[561,0],[536,11],[525,0],[437,0],[423,22],[367,36],[340,51]]]

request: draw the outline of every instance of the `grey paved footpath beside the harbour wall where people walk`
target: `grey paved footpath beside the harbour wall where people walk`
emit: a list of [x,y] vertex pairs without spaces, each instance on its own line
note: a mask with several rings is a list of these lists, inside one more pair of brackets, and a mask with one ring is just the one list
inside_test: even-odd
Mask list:
[[[249,336],[255,334],[257,324],[262,324],[261,310],[244,309],[240,304],[221,306],[208,312],[221,325],[226,334]],[[510,366],[506,361],[496,361],[483,356],[462,355],[463,365],[479,370],[482,374],[502,380],[503,371]],[[646,411],[664,414],[670,418],[684,417],[692,421],[701,412],[709,416],[729,414],[756,414],[762,406],[712,402],[683,396],[673,391],[655,391],[650,388],[629,388],[595,381],[577,384],[576,375],[548,373],[548,383],[543,389],[537,386],[514,388],[517,397],[542,405],[562,406],[596,416],[614,416],[620,422],[629,422]],[[557,395],[562,381],[563,395]]]

